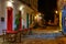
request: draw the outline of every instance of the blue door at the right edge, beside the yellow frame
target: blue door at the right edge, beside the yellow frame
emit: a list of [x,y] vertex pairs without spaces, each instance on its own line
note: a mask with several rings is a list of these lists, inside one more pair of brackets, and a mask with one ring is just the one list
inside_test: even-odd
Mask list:
[[63,25],[63,32],[66,34],[66,7],[64,7],[62,12],[62,25]]

